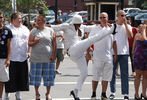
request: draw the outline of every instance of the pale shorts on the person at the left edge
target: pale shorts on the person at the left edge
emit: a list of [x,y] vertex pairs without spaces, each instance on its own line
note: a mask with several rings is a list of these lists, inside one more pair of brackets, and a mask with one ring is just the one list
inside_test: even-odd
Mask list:
[[0,82],[7,82],[9,80],[9,67],[6,67],[6,59],[0,59]]

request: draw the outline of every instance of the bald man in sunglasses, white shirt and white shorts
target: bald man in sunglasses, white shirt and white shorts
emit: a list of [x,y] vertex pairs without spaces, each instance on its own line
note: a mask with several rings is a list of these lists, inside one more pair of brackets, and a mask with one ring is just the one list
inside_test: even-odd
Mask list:
[[[108,25],[108,14],[100,14],[100,25],[96,25],[89,36],[100,34],[103,29],[110,29]],[[96,100],[96,89],[100,77],[102,77],[101,100],[107,100],[106,90],[108,81],[111,81],[113,72],[112,48],[114,50],[114,60],[117,58],[116,41],[114,35],[110,34],[94,44],[93,52],[93,80],[92,80],[92,100]]]

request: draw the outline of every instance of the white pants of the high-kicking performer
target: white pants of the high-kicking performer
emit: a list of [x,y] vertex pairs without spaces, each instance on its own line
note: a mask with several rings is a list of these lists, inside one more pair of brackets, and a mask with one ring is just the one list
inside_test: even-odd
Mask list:
[[87,39],[81,40],[69,48],[68,54],[70,55],[71,60],[73,60],[77,64],[80,70],[80,77],[75,87],[76,89],[82,89],[82,85],[88,75],[87,63],[84,52],[92,44],[101,40],[103,37],[111,34],[113,32],[113,29],[113,27],[110,30],[105,29],[101,33],[91,36]]

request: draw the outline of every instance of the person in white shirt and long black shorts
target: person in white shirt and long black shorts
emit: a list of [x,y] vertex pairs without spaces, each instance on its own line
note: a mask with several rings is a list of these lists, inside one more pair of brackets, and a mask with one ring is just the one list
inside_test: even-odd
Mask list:
[[8,28],[12,31],[12,50],[10,57],[9,77],[5,83],[5,100],[9,100],[9,93],[14,93],[16,100],[22,100],[20,91],[29,91],[28,63],[30,56],[28,38],[30,31],[22,25],[22,18],[19,13],[11,15],[11,24]]

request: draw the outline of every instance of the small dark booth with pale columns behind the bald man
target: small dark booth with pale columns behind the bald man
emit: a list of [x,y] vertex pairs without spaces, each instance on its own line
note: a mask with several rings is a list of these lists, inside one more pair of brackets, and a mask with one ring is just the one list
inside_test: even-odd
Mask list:
[[115,20],[120,0],[83,0],[88,9],[88,20],[97,21],[101,12],[107,12],[109,20]]

